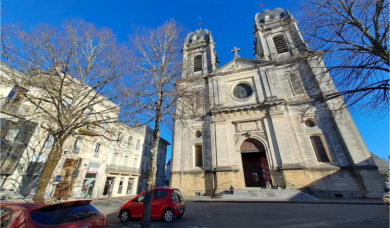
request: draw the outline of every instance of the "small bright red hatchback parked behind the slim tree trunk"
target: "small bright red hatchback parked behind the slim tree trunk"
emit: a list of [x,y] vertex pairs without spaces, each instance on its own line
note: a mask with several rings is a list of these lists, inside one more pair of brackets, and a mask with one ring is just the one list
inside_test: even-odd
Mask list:
[[[141,218],[144,212],[145,191],[123,203],[118,217],[126,223],[131,218]],[[183,196],[177,188],[155,188],[152,198],[152,218],[162,218],[170,223],[174,217],[182,217],[186,210]]]

